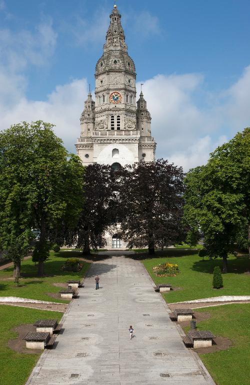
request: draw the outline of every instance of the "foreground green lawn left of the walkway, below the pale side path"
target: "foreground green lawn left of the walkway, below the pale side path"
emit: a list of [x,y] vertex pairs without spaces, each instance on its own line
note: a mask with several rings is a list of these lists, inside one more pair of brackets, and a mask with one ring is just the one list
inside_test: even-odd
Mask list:
[[61,313],[24,307],[0,305],[0,383],[1,385],[24,385],[40,354],[17,353],[7,345],[17,337],[12,328],[23,323],[33,323],[38,318],[53,318],[58,321]]

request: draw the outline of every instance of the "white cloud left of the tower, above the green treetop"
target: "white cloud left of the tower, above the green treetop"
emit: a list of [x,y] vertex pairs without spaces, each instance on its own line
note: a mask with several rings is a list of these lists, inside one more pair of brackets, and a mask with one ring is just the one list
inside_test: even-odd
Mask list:
[[12,95],[15,103],[11,101],[11,107],[9,100],[0,104],[0,130],[21,121],[41,119],[55,124],[55,134],[63,139],[70,151],[74,151],[74,143],[80,132],[79,117],[87,95],[86,79],[57,86],[46,101],[27,100],[18,85],[12,87]]

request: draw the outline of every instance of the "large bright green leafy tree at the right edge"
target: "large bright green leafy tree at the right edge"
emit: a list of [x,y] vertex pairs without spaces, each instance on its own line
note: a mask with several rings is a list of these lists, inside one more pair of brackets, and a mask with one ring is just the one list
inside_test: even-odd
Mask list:
[[[184,218],[189,233],[204,233],[205,252],[223,259],[235,247],[249,247],[250,129],[219,146],[205,166],[185,178]],[[247,240],[248,230],[248,240]]]

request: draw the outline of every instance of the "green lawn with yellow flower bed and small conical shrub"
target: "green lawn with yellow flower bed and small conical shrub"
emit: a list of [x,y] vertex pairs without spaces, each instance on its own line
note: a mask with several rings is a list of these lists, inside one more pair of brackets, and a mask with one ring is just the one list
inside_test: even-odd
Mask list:
[[[169,250],[174,251],[173,249]],[[249,260],[247,258],[229,257],[229,272],[222,274],[224,287],[219,290],[212,289],[212,272],[214,266],[222,267],[221,259],[204,259],[202,261],[196,254],[182,257],[145,259],[142,262],[155,284],[171,283],[173,287],[180,288],[180,290],[173,290],[163,294],[165,301],[168,303],[221,295],[250,295],[250,276],[244,274],[249,269]],[[153,266],[164,262],[177,264],[180,274],[176,277],[156,277],[152,271]]]

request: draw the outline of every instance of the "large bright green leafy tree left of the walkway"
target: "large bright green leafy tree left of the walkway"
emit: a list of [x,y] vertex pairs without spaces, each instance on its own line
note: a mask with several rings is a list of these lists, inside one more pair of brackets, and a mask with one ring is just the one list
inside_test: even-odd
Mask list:
[[20,265],[30,229],[38,228],[38,275],[43,274],[47,241],[62,238],[65,228],[75,224],[82,200],[83,166],[52,127],[23,122],[0,133],[0,248],[9,255],[16,240]]

